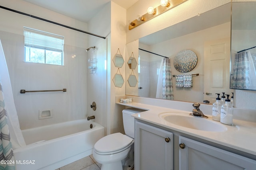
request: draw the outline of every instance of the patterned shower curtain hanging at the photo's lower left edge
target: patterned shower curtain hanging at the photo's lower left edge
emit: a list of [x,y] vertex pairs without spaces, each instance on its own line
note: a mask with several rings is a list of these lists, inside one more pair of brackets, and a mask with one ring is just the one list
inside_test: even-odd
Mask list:
[[15,170],[12,143],[10,142],[7,122],[4,93],[0,80],[0,170]]

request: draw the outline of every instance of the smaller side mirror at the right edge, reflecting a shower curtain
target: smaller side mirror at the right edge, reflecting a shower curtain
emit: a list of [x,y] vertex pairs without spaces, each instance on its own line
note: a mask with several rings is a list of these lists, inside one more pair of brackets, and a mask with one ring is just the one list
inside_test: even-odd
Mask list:
[[232,2],[230,88],[256,90],[256,2]]

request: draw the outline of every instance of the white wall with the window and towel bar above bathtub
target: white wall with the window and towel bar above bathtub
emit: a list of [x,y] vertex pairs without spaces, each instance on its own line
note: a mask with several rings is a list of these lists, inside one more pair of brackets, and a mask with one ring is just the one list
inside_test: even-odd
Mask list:
[[[1,6],[87,31],[87,23],[34,6],[23,0],[0,0]],[[4,49],[21,129],[86,117],[88,35],[4,9],[0,10]],[[4,17],[3,17],[4,16]],[[23,27],[64,36],[64,66],[24,62]],[[72,58],[73,55],[76,57]],[[20,94],[25,90],[57,90]],[[53,118],[38,119],[39,109],[53,109]]]

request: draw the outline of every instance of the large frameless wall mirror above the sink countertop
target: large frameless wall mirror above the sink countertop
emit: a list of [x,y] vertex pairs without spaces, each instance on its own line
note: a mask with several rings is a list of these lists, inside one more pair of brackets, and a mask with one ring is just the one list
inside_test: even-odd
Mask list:
[[[170,61],[173,100],[213,103],[215,93],[231,94],[230,31],[231,3],[228,3],[128,43],[126,61],[132,51],[138,61],[138,69],[134,70],[138,83],[133,88],[126,86],[126,95],[163,98],[160,79],[165,69],[161,67],[164,57]],[[174,68],[174,57],[183,50],[193,51],[197,56],[196,66],[189,72]],[[192,86],[176,87],[176,78],[184,75],[192,75]]]

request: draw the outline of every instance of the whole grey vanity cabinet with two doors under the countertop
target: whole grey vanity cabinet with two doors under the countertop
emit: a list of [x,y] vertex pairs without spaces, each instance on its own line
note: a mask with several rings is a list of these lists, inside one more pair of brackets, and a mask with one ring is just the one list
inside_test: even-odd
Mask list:
[[256,170],[256,160],[233,149],[135,120],[135,170]]

